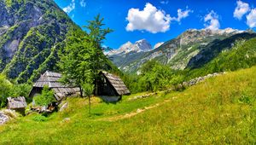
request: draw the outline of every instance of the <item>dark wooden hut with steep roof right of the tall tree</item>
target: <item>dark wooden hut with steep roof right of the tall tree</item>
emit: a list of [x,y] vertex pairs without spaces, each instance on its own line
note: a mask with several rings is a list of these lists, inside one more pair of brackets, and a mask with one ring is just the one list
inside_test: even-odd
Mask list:
[[106,102],[117,102],[123,95],[131,94],[119,76],[107,72],[101,72],[99,75],[97,95],[102,96]]

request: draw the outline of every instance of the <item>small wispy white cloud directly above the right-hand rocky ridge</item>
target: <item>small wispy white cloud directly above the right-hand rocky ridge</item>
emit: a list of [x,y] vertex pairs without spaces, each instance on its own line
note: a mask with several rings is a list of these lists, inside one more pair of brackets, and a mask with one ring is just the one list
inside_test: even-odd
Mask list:
[[213,10],[205,16],[204,21],[207,29],[218,30],[220,27],[218,22],[218,14],[216,14]]

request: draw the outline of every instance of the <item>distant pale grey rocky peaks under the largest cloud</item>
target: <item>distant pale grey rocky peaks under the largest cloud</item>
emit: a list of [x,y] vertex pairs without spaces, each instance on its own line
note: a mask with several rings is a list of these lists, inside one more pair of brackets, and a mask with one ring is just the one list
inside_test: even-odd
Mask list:
[[129,53],[147,52],[152,49],[151,44],[146,39],[138,40],[135,44],[127,42],[119,47],[107,52],[108,55],[126,55]]

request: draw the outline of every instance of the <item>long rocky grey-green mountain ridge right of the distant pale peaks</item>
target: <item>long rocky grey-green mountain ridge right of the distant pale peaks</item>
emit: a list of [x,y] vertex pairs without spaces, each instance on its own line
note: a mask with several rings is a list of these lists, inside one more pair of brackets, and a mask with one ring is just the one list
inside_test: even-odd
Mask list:
[[[232,36],[234,37],[230,38]],[[144,62],[152,59],[160,61],[173,69],[183,70],[192,64],[190,59],[199,58],[203,50],[208,49],[208,54],[211,54],[211,51],[218,46],[224,46],[223,49],[227,49],[230,48],[236,40],[253,37],[255,37],[253,32],[231,28],[216,31],[209,29],[189,29],[177,36],[177,38],[173,38],[164,44],[159,44],[160,46],[156,49],[122,55],[121,57],[119,55],[110,56],[112,57],[113,63],[127,73],[136,73]],[[218,52],[221,50],[222,48],[219,48]],[[217,54],[218,53],[215,53],[215,55]],[[207,57],[207,55],[205,57]],[[197,62],[200,63],[200,61]]]

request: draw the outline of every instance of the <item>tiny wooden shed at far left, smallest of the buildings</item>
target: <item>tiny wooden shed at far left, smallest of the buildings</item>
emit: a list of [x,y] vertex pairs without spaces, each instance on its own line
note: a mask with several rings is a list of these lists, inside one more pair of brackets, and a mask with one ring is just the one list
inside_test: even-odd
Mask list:
[[8,97],[7,108],[25,115],[26,99],[24,96]]

